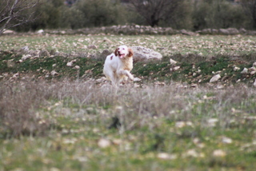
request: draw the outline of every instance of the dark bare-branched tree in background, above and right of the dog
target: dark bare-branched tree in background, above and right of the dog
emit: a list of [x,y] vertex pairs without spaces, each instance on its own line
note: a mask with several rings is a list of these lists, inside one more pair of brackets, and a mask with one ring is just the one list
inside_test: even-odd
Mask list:
[[130,0],[134,10],[145,18],[150,26],[158,26],[160,21],[170,20],[182,2],[184,0]]

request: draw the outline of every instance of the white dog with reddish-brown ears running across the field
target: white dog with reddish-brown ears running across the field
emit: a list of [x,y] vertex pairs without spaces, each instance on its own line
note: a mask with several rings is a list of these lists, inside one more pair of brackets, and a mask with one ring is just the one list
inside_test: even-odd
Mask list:
[[103,73],[112,85],[118,86],[128,78],[134,80],[134,76],[130,74],[133,69],[133,55],[133,50],[127,46],[119,46],[113,54],[106,57]]

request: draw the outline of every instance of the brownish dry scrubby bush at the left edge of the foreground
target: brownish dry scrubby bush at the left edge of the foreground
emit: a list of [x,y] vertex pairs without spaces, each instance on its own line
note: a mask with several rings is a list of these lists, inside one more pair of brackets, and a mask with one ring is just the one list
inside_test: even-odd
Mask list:
[[23,85],[6,82],[0,86],[0,137],[46,133],[50,121],[36,114],[50,94],[49,89],[34,82]]

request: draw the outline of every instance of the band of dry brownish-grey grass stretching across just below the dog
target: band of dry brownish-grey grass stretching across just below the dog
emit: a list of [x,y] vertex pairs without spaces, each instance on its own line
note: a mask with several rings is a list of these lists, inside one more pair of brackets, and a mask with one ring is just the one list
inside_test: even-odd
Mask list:
[[255,90],[246,85],[227,89],[205,86],[188,89],[186,85],[172,82],[165,86],[144,85],[143,88],[127,85],[116,90],[108,84],[95,85],[90,81],[2,82],[2,129],[9,136],[46,133],[53,123],[50,120],[42,122],[38,109],[46,109],[54,101],[62,101],[71,108],[91,107],[96,115],[101,114],[98,109],[104,109],[108,112],[106,118],[120,118],[126,129],[154,125],[152,120],[159,117],[172,121],[190,121],[198,116],[202,121],[220,117],[221,124],[226,126],[234,117],[232,109],[242,109],[242,114],[256,112],[254,108],[246,108],[246,105],[252,105],[254,93]]

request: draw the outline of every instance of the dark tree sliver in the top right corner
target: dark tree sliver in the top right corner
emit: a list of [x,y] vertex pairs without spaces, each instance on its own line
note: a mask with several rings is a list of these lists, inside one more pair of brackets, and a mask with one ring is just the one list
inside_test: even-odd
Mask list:
[[250,16],[256,27],[256,0],[241,0],[241,5],[246,14]]

